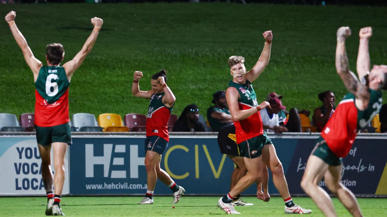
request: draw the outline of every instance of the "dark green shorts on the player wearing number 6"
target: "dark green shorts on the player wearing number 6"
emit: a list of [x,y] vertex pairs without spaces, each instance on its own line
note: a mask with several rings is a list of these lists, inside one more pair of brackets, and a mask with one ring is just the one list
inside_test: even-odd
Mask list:
[[42,146],[51,145],[53,142],[64,142],[69,145],[71,141],[70,125],[68,123],[52,127],[39,127],[35,125],[36,141]]

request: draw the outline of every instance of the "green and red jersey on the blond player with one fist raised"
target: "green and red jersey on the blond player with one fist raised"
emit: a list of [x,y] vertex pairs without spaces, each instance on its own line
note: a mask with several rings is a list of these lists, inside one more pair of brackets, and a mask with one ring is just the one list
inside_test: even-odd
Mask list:
[[[234,87],[239,92],[238,106],[240,110],[247,110],[252,107],[257,107],[257,95],[255,95],[253,85],[246,80],[245,84],[238,84],[230,81],[228,88]],[[234,121],[236,143],[241,143],[247,139],[260,136],[264,133],[262,119],[259,112],[254,113],[250,117],[240,121]]]

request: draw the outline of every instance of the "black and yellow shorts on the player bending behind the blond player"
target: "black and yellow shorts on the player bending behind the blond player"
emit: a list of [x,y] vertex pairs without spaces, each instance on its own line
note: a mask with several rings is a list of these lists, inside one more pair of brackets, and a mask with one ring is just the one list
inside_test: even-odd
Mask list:
[[218,133],[217,141],[220,153],[240,156],[238,144],[236,144],[234,124],[229,124],[222,127]]

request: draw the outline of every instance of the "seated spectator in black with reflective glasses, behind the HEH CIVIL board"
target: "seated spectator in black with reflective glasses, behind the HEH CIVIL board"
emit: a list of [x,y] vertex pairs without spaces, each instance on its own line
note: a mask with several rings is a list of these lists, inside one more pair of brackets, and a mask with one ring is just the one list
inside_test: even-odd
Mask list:
[[205,125],[199,121],[199,108],[195,104],[187,105],[172,128],[173,132],[205,132]]

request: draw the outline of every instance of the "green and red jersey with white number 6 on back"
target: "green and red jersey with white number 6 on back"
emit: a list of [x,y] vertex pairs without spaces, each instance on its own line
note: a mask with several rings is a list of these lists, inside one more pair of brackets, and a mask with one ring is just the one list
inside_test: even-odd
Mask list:
[[68,117],[68,86],[62,66],[42,66],[35,81],[35,124],[52,127],[70,121]]

